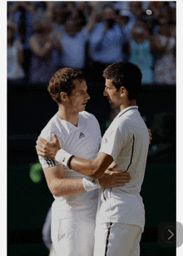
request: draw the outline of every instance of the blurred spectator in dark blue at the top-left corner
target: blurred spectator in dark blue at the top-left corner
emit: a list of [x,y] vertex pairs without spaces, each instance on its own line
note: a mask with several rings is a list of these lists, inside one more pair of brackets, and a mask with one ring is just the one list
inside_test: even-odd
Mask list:
[[8,11],[8,19],[11,19],[18,28],[18,33],[15,39],[19,39],[22,43],[24,53],[22,67],[26,73],[26,78],[28,78],[31,59],[31,51],[28,42],[33,33],[32,16],[34,12],[34,5],[31,2],[24,1],[12,3],[11,8]]

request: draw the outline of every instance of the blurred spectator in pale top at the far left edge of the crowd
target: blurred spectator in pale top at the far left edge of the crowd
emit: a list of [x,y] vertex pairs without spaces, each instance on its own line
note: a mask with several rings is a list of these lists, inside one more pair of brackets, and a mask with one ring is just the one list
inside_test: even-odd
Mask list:
[[17,26],[7,21],[7,81],[24,82],[25,73],[22,68],[23,48],[20,40],[13,40],[17,33]]

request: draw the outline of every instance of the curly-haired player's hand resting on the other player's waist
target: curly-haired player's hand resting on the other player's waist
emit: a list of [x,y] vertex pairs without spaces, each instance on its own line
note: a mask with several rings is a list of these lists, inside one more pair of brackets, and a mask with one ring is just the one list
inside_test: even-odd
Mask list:
[[130,182],[131,176],[129,173],[115,171],[115,168],[116,164],[112,164],[98,179],[102,188],[121,187]]

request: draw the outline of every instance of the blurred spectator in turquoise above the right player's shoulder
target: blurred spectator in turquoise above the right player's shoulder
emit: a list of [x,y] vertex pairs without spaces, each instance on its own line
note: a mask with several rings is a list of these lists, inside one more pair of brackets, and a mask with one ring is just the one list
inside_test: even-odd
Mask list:
[[141,83],[153,83],[153,48],[151,35],[141,22],[137,22],[131,30],[131,42],[129,43],[129,61],[136,64],[142,73]]

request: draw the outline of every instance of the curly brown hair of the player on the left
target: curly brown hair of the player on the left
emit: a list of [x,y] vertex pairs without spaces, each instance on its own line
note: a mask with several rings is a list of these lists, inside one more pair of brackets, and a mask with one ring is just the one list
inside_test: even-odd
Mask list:
[[79,80],[81,83],[85,80],[85,76],[81,70],[73,68],[59,69],[50,79],[47,87],[52,99],[57,103],[62,103],[60,94],[64,92],[70,96],[72,94],[72,90],[75,88],[73,83],[74,80]]

